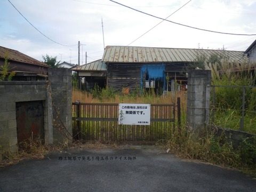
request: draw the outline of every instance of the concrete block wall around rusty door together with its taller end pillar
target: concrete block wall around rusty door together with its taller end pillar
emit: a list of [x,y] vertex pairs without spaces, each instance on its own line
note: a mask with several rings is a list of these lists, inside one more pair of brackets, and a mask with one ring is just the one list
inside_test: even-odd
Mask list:
[[[18,150],[16,102],[23,101],[43,101],[46,145],[71,142],[71,70],[50,68],[48,75],[47,82],[0,82],[0,146]],[[63,127],[68,137],[58,130]]]

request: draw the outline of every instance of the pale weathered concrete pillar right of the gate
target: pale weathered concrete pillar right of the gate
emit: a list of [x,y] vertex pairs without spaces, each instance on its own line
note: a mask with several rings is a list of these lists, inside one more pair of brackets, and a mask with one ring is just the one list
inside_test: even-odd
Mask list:
[[211,70],[190,70],[187,91],[187,124],[191,130],[209,124]]

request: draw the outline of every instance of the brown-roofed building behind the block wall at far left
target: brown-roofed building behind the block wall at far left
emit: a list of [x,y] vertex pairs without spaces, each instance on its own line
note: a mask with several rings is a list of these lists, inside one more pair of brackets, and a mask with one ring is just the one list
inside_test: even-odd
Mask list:
[[19,51],[0,46],[0,66],[7,57],[9,68],[15,71],[13,81],[40,81],[47,76],[50,66]]

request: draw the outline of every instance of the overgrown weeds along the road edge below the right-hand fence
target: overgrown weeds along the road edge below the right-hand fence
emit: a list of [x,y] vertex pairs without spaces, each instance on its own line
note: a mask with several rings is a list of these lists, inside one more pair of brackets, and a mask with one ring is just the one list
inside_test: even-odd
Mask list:
[[225,135],[217,137],[212,129],[200,134],[181,127],[167,141],[167,148],[180,158],[228,167],[256,177],[256,138],[244,139],[235,149]]

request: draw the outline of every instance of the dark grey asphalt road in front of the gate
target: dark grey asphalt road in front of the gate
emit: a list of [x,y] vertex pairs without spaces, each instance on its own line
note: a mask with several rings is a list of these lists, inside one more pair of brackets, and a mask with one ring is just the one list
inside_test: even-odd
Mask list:
[[0,191],[256,191],[237,171],[159,149],[82,149],[0,169]]

